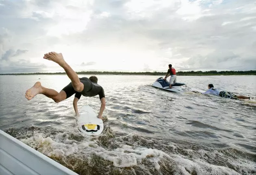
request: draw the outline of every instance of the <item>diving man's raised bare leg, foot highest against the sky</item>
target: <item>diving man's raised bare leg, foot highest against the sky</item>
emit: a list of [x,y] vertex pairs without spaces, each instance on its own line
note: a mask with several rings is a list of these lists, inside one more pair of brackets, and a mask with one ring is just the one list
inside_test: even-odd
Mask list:
[[82,92],[84,85],[80,82],[76,72],[65,62],[62,53],[49,52],[44,54],[44,59],[51,60],[59,64],[67,73],[67,76],[72,82],[72,86],[76,92]]

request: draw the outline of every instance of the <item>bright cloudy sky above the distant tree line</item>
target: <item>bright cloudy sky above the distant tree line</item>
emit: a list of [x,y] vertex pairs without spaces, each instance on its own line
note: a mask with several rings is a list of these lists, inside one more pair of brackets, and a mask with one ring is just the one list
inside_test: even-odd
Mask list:
[[0,0],[0,73],[256,70],[255,0]]

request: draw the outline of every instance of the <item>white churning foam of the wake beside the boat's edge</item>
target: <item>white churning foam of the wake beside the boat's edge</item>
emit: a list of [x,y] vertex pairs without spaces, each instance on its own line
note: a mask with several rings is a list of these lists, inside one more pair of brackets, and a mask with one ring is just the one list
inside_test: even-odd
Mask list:
[[[222,153],[217,151],[208,152],[206,150],[200,149],[195,154],[195,151],[191,149],[186,149],[189,155],[192,155],[192,158],[186,156],[181,156],[177,154],[166,154],[158,149],[151,149],[146,147],[138,147],[136,144],[134,146],[122,144],[120,140],[119,147],[113,150],[106,150],[100,147],[97,144],[97,140],[89,141],[85,139],[82,142],[78,141],[68,141],[70,133],[59,133],[56,134],[54,138],[45,137],[45,134],[34,134],[33,137],[28,139],[23,139],[24,143],[27,143],[33,148],[38,148],[38,151],[49,156],[49,157],[59,157],[63,158],[65,161],[65,156],[68,155],[86,155],[88,161],[90,161],[93,156],[97,155],[104,160],[113,162],[113,166],[119,168],[139,166],[141,169],[155,169],[156,171],[161,170],[160,162],[164,163],[165,166],[171,167],[174,169],[174,174],[183,174],[189,175],[190,172],[196,172],[197,175],[207,175],[207,174],[227,174],[227,175],[239,175],[236,171],[224,167],[209,164],[202,157],[205,154],[214,158],[216,155],[223,156]],[[132,137],[132,134],[129,134],[128,139]],[[62,142],[65,143],[62,143]],[[117,140],[116,140],[117,141]],[[132,141],[132,140],[130,140]],[[151,142],[149,140],[149,142]],[[70,144],[69,144],[70,143]],[[174,149],[176,146],[174,146]],[[79,153],[79,154],[76,154]],[[232,161],[232,160],[231,160]],[[146,163],[145,163],[146,162]],[[150,163],[150,164],[148,164]],[[162,164],[161,163],[161,164]],[[239,169],[245,168],[243,170],[246,172],[246,169],[254,169],[252,162],[249,161],[236,161],[232,162],[234,166],[240,166]],[[163,167],[162,167],[163,168]]]

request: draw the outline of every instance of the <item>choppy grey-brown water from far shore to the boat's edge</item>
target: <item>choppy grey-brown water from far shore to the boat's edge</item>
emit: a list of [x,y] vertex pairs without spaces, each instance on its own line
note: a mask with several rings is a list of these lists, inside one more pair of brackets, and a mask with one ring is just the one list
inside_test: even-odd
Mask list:
[[[24,97],[36,81],[60,91],[66,75],[0,76],[0,129],[80,175],[256,173],[255,100],[190,92],[213,83],[255,97],[256,76],[179,76],[187,84],[182,94],[151,87],[158,77],[99,75],[108,120],[100,136],[89,137],[76,128],[74,96],[58,104]],[[100,109],[98,96],[82,96],[78,109],[86,104]]]

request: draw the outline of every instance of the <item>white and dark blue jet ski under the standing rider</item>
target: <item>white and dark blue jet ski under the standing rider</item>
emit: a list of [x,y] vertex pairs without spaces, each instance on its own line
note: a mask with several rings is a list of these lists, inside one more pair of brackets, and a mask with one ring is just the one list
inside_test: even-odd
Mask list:
[[154,83],[151,84],[152,87],[156,87],[161,90],[171,91],[171,92],[182,92],[181,86],[185,85],[184,83],[174,83],[169,88],[169,82],[165,81],[163,77],[156,79]]

